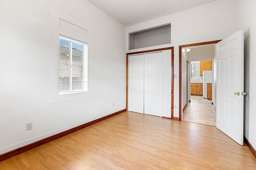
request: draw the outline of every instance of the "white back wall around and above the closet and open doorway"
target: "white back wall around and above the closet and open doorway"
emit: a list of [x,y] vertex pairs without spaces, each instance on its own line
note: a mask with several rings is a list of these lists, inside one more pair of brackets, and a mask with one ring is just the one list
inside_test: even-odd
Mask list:
[[174,47],[174,117],[179,117],[179,45],[223,39],[238,31],[238,0],[218,0],[172,15],[126,27],[128,33],[171,23]]

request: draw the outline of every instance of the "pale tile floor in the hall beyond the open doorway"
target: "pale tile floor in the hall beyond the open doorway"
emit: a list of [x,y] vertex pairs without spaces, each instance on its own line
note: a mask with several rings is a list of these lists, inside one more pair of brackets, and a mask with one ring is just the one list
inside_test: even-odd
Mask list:
[[216,126],[216,111],[212,100],[204,99],[203,96],[190,96],[183,112],[183,121]]

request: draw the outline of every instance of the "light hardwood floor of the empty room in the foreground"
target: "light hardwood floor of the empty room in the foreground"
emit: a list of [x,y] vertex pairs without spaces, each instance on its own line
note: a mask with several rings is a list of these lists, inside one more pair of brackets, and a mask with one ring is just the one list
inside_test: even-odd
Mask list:
[[213,126],[124,112],[0,162],[1,170],[255,170],[256,159]]

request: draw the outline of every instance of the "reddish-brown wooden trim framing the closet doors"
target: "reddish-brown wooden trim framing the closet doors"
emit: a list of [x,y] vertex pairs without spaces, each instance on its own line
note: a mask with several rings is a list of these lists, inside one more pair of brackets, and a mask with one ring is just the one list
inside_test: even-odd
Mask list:
[[174,105],[174,47],[167,47],[167,48],[162,48],[162,49],[153,49],[153,50],[146,50],[146,51],[138,51],[138,52],[133,52],[133,53],[126,53],[126,111],[128,111],[128,56],[133,55],[133,54],[140,54],[140,53],[150,53],[150,52],[155,52],[155,51],[164,51],[164,50],[172,50],[172,55],[171,55],[171,61],[172,61],[172,87],[171,87],[171,119],[174,119],[173,117],[173,105]]

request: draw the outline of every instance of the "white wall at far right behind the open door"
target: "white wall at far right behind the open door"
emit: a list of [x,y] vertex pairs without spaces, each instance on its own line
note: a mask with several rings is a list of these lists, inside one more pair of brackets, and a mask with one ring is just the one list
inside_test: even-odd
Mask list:
[[[256,149],[256,1],[239,0],[239,24],[244,30],[244,135]],[[251,88],[250,88],[251,87]]]

